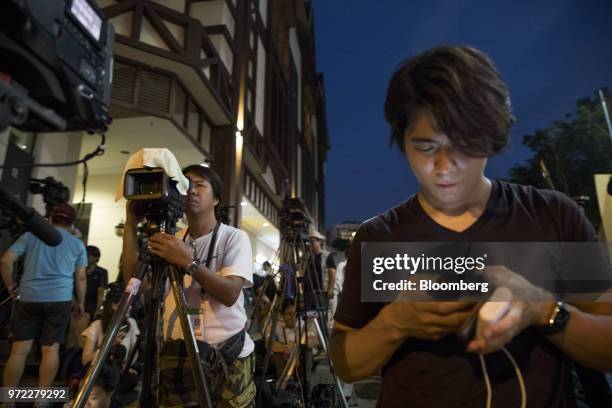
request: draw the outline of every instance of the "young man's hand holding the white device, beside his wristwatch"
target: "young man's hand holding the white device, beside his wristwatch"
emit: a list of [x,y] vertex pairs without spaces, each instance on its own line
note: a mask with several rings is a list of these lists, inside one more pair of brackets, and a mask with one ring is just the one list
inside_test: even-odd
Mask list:
[[[554,296],[511,271],[505,266],[490,266],[483,270],[483,278],[491,286],[505,286],[515,297],[508,312],[496,323],[482,328],[482,338],[468,343],[467,351],[487,354],[500,350],[514,336],[531,325],[544,325],[554,308]],[[520,299],[517,299],[520,297]]]

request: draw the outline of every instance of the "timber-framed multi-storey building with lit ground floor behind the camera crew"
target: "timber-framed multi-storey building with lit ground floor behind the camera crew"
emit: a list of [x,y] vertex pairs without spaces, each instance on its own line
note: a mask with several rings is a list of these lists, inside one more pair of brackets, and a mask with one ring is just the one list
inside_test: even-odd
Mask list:
[[[89,244],[113,275],[121,251],[115,202],[125,162],[138,150],[170,149],[181,165],[200,163],[224,182],[229,223],[247,231],[258,260],[280,240],[286,195],[300,197],[323,230],[329,150],[322,75],[315,61],[313,10],[304,0],[97,0],[116,32],[106,153],[89,162],[81,216]],[[15,135],[10,140],[15,140]],[[98,136],[37,135],[35,162],[69,161]],[[9,136],[2,137],[3,150]],[[2,151],[0,151],[2,155]],[[83,170],[35,169],[83,196]],[[41,207],[39,198],[32,203]]]

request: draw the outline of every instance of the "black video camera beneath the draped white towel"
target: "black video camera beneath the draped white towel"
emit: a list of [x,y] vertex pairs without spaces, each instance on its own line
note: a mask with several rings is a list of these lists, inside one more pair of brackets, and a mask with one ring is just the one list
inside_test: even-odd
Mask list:
[[123,196],[136,201],[135,211],[147,219],[145,234],[159,232],[162,226],[169,233],[176,229],[176,222],[185,210],[185,196],[176,185],[161,167],[142,167],[125,173]]

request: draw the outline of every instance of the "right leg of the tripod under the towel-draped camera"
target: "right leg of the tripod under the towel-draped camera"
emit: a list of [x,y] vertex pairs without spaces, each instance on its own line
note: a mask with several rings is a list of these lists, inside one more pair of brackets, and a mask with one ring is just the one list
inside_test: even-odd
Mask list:
[[210,400],[210,393],[208,392],[208,384],[206,383],[204,369],[202,368],[202,363],[200,361],[200,351],[193,333],[193,328],[191,327],[191,321],[187,317],[187,308],[185,307],[187,301],[185,299],[185,294],[181,289],[182,285],[180,284],[179,273],[172,265],[168,265],[167,270],[170,278],[170,285],[172,287],[172,293],[174,295],[174,302],[176,303],[176,314],[181,322],[183,339],[185,340],[185,346],[187,347],[187,354],[191,360],[194,384],[200,397],[200,406],[212,408],[213,405]]

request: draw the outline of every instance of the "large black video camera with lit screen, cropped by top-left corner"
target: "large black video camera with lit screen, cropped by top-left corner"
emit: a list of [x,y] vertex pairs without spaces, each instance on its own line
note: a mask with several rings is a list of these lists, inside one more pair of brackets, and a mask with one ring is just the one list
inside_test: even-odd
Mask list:
[[105,132],[114,36],[93,0],[4,1],[0,131]]

